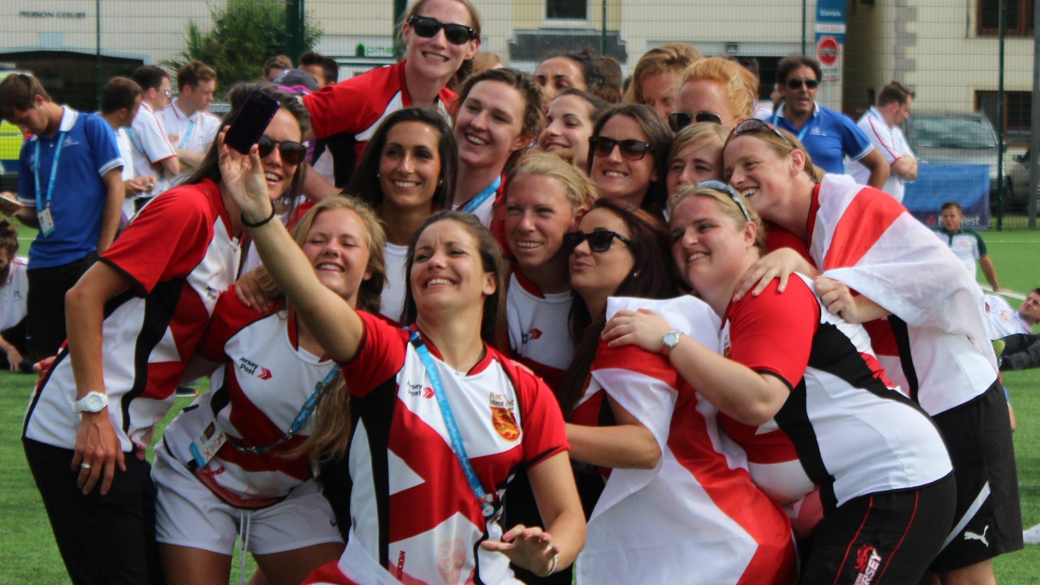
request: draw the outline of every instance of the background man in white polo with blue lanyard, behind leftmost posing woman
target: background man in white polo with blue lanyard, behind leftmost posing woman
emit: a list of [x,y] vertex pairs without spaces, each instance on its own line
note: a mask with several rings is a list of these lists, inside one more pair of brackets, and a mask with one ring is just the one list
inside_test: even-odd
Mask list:
[[207,111],[216,91],[212,68],[200,60],[183,65],[177,70],[177,99],[156,112],[181,163],[167,188],[179,185],[202,163],[220,129],[220,120]]

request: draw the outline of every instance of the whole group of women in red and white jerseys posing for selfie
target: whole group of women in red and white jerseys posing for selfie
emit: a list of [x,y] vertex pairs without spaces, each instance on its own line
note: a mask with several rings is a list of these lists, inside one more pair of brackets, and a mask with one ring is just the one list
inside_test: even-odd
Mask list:
[[[225,124],[282,104],[260,143],[222,132],[70,292],[24,443],[73,582],[227,583],[237,537],[255,584],[993,583],[1017,484],[959,260],[733,60],[456,95],[479,29],[416,2],[389,108],[235,86]],[[333,130],[349,182],[279,214]]]

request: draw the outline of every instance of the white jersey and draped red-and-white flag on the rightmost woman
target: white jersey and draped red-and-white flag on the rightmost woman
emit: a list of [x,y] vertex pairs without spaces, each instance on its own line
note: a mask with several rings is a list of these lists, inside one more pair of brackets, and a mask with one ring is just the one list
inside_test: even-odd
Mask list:
[[[964,404],[996,380],[982,288],[894,199],[848,176],[827,175],[813,190],[806,243],[824,276],[892,313],[892,335],[875,341],[878,359],[926,412]],[[893,352],[901,347],[909,348],[902,360]]]

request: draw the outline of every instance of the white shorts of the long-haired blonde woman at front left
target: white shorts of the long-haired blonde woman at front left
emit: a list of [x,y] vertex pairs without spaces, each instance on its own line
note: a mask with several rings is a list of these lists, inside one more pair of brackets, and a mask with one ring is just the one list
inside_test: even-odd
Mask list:
[[343,541],[332,508],[314,480],[267,508],[236,508],[217,498],[159,443],[155,449],[152,481],[157,490],[156,540],[164,544],[231,556],[235,536],[245,523],[246,549],[254,555]]

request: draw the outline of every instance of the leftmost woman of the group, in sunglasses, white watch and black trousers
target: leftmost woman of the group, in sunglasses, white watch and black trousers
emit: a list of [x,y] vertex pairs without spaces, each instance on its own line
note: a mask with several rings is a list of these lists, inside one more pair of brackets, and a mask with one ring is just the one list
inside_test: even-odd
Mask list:
[[[269,85],[232,87],[225,123],[254,90],[282,106],[264,135],[300,142],[307,110]],[[23,444],[74,582],[161,582],[145,450],[239,262],[243,222],[218,152],[141,208],[69,291],[68,345],[30,400]],[[262,166],[269,200],[298,184],[280,150]]]

